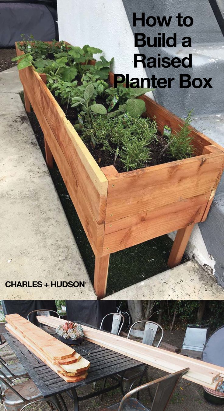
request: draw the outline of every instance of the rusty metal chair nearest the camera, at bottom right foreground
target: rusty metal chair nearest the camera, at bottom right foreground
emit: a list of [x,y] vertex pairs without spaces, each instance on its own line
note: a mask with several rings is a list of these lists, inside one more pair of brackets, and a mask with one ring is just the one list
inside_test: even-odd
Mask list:
[[[174,374],[169,374],[165,377],[159,378],[150,383],[146,383],[142,386],[134,388],[134,390],[129,391],[117,404],[111,405],[109,407],[101,409],[101,411],[112,410],[112,411],[130,411],[130,410],[142,410],[142,411],[164,411],[174,394],[174,390],[189,368],[182,369],[181,371],[175,372]],[[145,388],[151,388],[153,385],[158,384],[155,396],[150,409],[146,408],[141,404],[136,398],[131,398],[132,395],[139,393],[139,391]]]

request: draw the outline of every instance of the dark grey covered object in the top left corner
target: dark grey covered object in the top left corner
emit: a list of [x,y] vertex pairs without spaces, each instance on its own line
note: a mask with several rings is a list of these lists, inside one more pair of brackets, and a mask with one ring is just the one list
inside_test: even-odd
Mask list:
[[0,1],[0,48],[14,47],[21,33],[28,39],[58,39],[57,10],[51,2]]

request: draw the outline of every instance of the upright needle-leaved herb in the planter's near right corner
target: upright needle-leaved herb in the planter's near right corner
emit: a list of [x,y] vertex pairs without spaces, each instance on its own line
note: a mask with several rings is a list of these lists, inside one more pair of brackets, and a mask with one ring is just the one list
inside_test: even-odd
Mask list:
[[184,158],[191,157],[194,152],[194,146],[192,145],[192,137],[190,136],[190,124],[192,122],[192,112],[190,110],[187,114],[187,117],[184,120],[184,125],[180,127],[180,131],[175,134],[171,134],[167,137],[167,141],[170,143],[167,147],[167,152],[170,157],[175,158],[176,160],[181,160]]

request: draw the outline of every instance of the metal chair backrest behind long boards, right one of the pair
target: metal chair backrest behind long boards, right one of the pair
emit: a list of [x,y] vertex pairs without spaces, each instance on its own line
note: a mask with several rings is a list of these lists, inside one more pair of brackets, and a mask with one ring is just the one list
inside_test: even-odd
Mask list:
[[[133,327],[136,324],[139,324],[139,323],[145,323],[144,330],[133,330]],[[142,338],[142,343],[143,344],[153,345],[155,335],[156,335],[156,332],[157,332],[158,328],[160,328],[160,330],[162,331],[162,336],[161,336],[158,344],[156,345],[156,347],[158,348],[160,346],[160,343],[161,343],[162,339],[163,339],[164,331],[163,331],[163,328],[160,326],[160,324],[154,323],[153,321],[147,321],[147,320],[136,321],[136,323],[132,324],[132,326],[131,326],[131,328],[128,332],[128,337],[127,338],[129,338],[130,335],[133,335],[134,337]]]

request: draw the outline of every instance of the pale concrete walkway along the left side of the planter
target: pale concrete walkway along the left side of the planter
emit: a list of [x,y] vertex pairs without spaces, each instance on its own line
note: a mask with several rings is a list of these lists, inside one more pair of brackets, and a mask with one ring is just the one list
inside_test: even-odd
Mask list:
[[[96,299],[21,90],[17,67],[0,72],[0,299]],[[6,281],[85,281],[85,288],[7,288]]]

